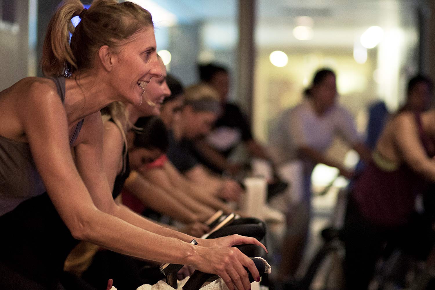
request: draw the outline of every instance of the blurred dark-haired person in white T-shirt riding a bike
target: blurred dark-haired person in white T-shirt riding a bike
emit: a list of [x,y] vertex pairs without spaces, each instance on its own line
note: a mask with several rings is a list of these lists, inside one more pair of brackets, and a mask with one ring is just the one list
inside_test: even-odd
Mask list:
[[325,155],[334,137],[339,135],[361,158],[370,159],[353,117],[337,104],[335,73],[318,70],[305,93],[300,104],[281,114],[269,140],[279,176],[292,184],[288,189],[287,233],[277,277],[282,282],[294,278],[304,253],[311,218],[311,173],[315,165],[336,167],[346,178],[353,175],[342,163]]

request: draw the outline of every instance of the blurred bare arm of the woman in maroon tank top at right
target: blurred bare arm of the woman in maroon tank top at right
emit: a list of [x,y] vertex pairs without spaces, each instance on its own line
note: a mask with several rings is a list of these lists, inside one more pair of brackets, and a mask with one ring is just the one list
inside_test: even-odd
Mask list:
[[427,153],[418,137],[418,126],[413,113],[401,113],[393,120],[394,143],[401,158],[416,173],[435,181],[435,161]]

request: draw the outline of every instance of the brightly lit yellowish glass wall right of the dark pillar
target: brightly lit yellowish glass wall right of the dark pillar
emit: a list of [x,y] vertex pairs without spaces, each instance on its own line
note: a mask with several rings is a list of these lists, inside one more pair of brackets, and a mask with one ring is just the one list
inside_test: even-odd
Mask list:
[[[385,100],[389,110],[396,110],[408,77],[418,71],[416,4],[259,0],[256,136],[267,142],[270,121],[300,102],[321,67],[337,73],[339,102],[354,114],[361,132],[369,103]],[[281,58],[279,53],[271,56],[276,50],[283,52]]]

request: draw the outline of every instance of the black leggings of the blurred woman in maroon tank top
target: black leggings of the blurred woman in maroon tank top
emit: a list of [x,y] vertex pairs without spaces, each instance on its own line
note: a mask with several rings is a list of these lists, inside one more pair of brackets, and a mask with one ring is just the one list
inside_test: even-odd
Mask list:
[[351,196],[343,233],[347,290],[367,290],[376,261],[388,257],[388,250],[400,248],[405,254],[424,259],[433,243],[430,223],[422,216],[415,213],[400,227],[377,226],[361,215]]

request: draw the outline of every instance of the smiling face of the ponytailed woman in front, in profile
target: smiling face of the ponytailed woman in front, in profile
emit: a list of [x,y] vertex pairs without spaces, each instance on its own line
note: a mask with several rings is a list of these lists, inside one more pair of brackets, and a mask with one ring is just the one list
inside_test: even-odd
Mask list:
[[139,106],[151,78],[163,73],[157,60],[154,29],[147,27],[135,33],[129,42],[113,53],[110,61],[112,87],[124,97],[122,101]]

